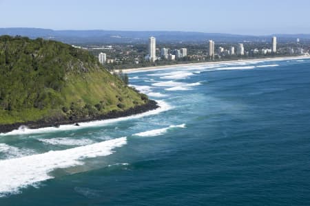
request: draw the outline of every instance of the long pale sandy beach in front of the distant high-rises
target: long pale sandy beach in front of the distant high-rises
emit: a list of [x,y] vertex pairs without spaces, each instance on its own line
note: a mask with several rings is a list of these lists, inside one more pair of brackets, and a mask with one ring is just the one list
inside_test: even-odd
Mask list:
[[238,63],[238,62],[260,62],[260,61],[280,61],[280,60],[298,60],[310,58],[310,56],[282,56],[282,57],[274,57],[274,58],[252,58],[252,59],[240,59],[240,60],[223,60],[218,62],[199,62],[199,63],[187,63],[187,64],[179,64],[179,65],[163,65],[163,66],[154,66],[154,67],[139,67],[139,68],[130,68],[130,69],[115,69],[114,71],[119,72],[120,70],[123,73],[135,73],[142,71],[154,71],[161,69],[169,69],[169,68],[177,68],[177,67],[190,67],[197,65],[220,65],[225,63]]

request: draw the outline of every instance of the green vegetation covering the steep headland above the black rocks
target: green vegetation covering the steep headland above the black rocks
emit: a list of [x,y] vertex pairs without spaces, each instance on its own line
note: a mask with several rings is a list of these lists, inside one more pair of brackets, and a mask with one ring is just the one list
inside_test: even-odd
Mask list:
[[0,36],[0,124],[94,117],[147,102],[89,52]]

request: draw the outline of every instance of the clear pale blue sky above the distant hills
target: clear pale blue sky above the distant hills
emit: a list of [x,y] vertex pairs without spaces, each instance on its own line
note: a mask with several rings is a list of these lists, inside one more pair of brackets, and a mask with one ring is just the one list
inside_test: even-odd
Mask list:
[[0,0],[0,27],[310,34],[309,0]]

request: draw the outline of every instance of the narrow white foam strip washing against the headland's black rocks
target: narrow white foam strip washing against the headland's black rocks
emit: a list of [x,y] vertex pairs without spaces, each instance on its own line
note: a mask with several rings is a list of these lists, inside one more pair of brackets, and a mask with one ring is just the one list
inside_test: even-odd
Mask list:
[[66,124],[66,125],[61,125],[58,128],[56,127],[46,127],[46,128],[37,128],[37,129],[23,128],[22,130],[13,130],[10,133],[0,133],[0,136],[42,134],[42,133],[59,132],[63,130],[78,130],[81,128],[105,126],[107,124],[113,124],[115,122],[122,122],[122,121],[127,121],[130,119],[138,119],[138,118],[147,117],[150,115],[158,115],[159,113],[172,109],[172,106],[170,106],[163,100],[157,100],[156,102],[159,108],[156,108],[152,111],[147,111],[145,113],[141,113],[138,115],[120,117],[120,118],[115,118],[115,119],[98,120],[98,121],[92,121],[92,122],[82,122],[82,123],[79,123],[79,126],[74,126],[73,124]]

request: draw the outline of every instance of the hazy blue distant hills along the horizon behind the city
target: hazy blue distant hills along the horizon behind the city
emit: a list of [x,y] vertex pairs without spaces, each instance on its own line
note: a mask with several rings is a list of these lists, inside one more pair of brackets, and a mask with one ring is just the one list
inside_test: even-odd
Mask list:
[[146,43],[149,36],[156,36],[158,43],[176,42],[205,42],[213,39],[218,42],[242,42],[242,41],[270,41],[271,36],[276,35],[279,41],[296,41],[300,38],[310,41],[310,34],[273,34],[268,36],[250,36],[236,34],[217,34],[203,32],[130,32],[108,30],[45,30],[37,28],[0,28],[0,35],[29,36],[30,38],[45,38],[70,44],[83,43]]

